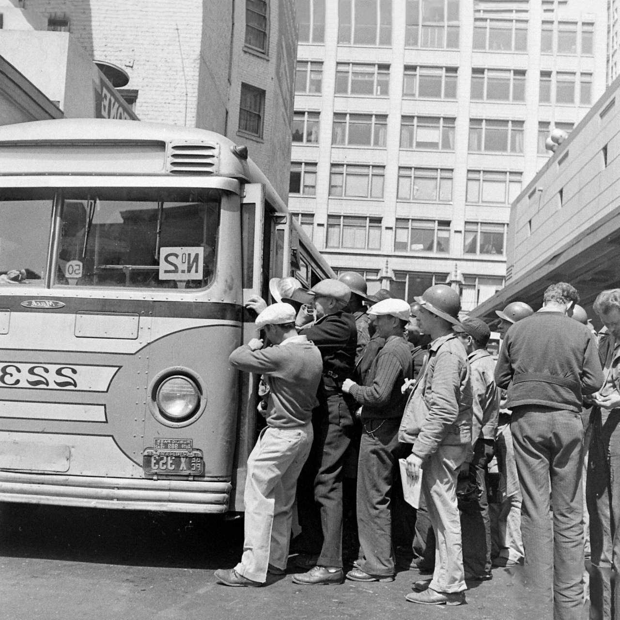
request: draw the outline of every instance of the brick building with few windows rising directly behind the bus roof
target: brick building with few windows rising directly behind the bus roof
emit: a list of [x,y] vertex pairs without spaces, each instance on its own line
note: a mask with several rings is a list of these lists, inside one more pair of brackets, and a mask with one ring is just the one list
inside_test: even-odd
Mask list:
[[124,74],[114,85],[141,120],[246,144],[286,201],[297,44],[291,0],[27,0],[27,7],[49,30],[70,32],[111,75]]

